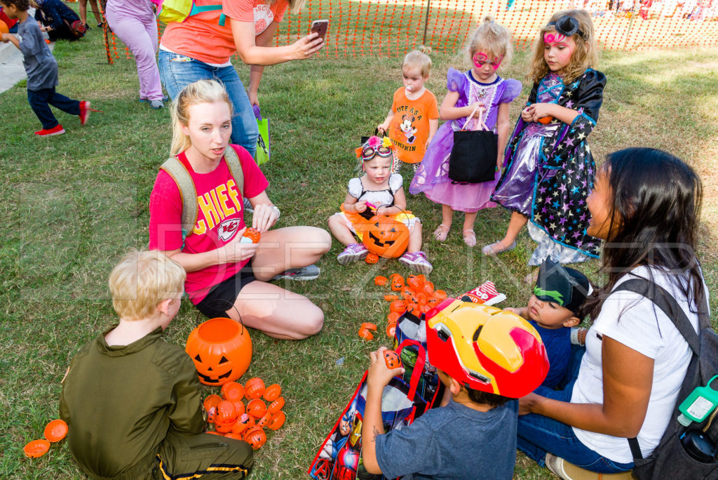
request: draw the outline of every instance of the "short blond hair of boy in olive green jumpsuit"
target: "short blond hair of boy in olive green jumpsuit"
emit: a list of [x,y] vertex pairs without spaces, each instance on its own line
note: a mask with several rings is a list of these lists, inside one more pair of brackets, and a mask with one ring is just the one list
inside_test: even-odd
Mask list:
[[182,293],[187,274],[161,251],[131,249],[110,274],[112,306],[123,320],[142,320]]

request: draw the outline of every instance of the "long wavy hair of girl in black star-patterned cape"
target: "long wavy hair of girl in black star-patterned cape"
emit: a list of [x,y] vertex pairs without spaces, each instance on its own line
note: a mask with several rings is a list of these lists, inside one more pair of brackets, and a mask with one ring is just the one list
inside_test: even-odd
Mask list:
[[[574,50],[571,56],[569,65],[566,65],[566,68],[564,68],[564,83],[571,83],[576,80],[579,75],[584,73],[587,68],[595,67],[598,64],[598,49],[596,47],[596,37],[593,33],[593,21],[591,20],[591,15],[585,10],[556,11],[546,24],[556,22],[556,20],[564,15],[577,19],[579,29],[583,32],[583,35],[576,33],[572,36],[574,42],[576,42],[576,50]],[[544,47],[546,46],[544,43],[544,33],[555,31],[556,25],[544,25],[538,32],[538,40],[536,44],[533,45],[531,72],[526,75],[526,78],[533,83],[540,82],[541,78],[549,74],[549,65],[547,65],[546,60],[544,60]]]

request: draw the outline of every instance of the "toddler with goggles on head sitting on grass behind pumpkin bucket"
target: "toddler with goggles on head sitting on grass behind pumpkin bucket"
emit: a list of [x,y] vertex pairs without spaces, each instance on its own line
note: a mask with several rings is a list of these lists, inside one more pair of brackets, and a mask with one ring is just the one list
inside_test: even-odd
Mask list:
[[357,224],[361,216],[386,215],[409,228],[409,246],[399,262],[414,272],[429,274],[434,267],[421,251],[421,221],[406,211],[403,180],[398,173],[391,173],[395,148],[388,137],[369,137],[357,149],[364,175],[349,180],[342,211],[329,218],[332,235],[346,246],[337,255],[337,262],[346,265],[363,259],[369,253],[354,237],[358,235]]

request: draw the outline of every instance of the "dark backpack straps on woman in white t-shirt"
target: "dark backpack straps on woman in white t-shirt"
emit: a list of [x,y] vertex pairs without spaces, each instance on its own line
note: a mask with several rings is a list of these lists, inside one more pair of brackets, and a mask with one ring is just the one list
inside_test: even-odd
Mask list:
[[[631,280],[626,280],[622,284],[618,285],[611,293],[620,292],[622,290],[638,293],[638,295],[643,295],[643,297],[651,300],[654,305],[663,310],[663,313],[671,319],[673,325],[678,328],[678,331],[681,333],[683,338],[686,339],[686,342],[688,342],[693,354],[695,356],[700,355],[701,342],[698,338],[698,333],[696,333],[691,321],[688,317],[686,317],[686,313],[679,306],[676,299],[673,298],[673,295],[668,292],[668,290],[661,287],[661,285],[657,285],[655,282],[645,280],[644,278],[632,278]],[[703,308],[701,308],[699,313],[699,331],[703,329],[701,325],[701,323],[703,323],[702,320],[707,318],[704,317],[704,315],[707,315],[708,313],[707,302],[708,300],[704,296],[704,305],[701,305]],[[643,458],[643,453],[640,451],[640,445],[638,444],[638,438],[628,438],[628,446],[630,446],[630,453],[633,458]]]

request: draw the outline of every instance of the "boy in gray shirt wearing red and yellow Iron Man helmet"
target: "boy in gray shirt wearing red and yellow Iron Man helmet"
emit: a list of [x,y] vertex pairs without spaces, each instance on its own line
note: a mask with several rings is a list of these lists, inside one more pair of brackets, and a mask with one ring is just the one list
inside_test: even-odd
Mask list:
[[386,349],[372,352],[363,466],[387,479],[510,480],[516,463],[515,399],[546,377],[546,350],[536,330],[514,313],[445,302],[427,314],[426,352],[447,388],[448,404],[384,433],[382,392],[398,371],[385,361]]

